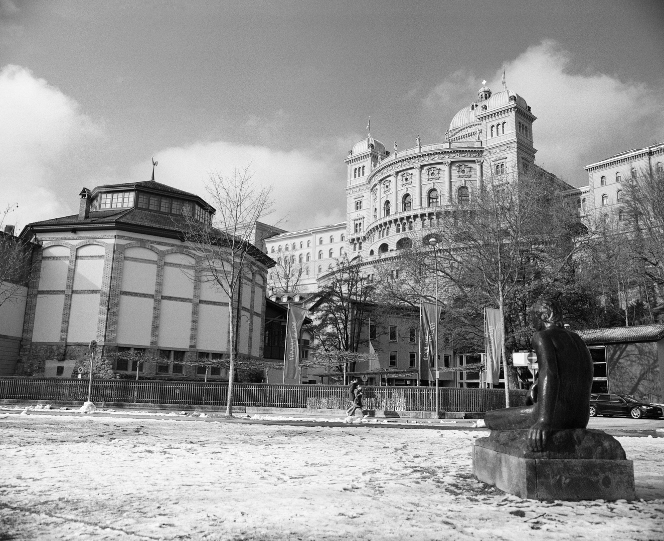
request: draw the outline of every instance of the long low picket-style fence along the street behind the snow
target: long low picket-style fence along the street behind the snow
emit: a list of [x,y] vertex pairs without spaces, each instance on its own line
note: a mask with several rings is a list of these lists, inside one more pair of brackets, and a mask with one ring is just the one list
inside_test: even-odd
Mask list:
[[[366,410],[433,411],[434,387],[363,386]],[[133,404],[188,404],[225,406],[227,383],[201,381],[92,381],[92,401]],[[505,407],[503,389],[456,389],[442,387],[440,410],[444,412],[485,412]],[[521,406],[527,391],[510,391],[511,405]],[[343,385],[269,385],[236,383],[234,406],[265,408],[345,409],[350,401]],[[84,402],[88,381],[33,377],[0,378],[0,399],[58,400]]]

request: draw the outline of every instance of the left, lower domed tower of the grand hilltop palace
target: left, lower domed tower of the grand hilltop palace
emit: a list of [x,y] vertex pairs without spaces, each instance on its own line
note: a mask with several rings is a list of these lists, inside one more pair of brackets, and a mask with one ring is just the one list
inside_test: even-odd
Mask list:
[[348,168],[346,184],[346,239],[349,259],[362,255],[364,231],[371,222],[369,174],[380,160],[389,156],[385,145],[371,137],[371,133],[349,150],[345,162]]

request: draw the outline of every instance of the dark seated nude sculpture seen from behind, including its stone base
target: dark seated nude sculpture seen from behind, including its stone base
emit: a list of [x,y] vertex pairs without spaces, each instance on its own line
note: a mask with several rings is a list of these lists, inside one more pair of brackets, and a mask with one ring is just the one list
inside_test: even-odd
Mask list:
[[488,438],[473,446],[473,473],[499,489],[536,499],[633,499],[633,463],[615,438],[586,430],[592,357],[542,298],[531,308],[539,377],[535,400],[485,415]]

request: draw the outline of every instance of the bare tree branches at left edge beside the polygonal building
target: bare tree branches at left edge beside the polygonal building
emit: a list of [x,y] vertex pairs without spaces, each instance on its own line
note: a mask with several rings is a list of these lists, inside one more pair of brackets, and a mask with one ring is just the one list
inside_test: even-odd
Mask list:
[[[0,215],[0,230],[7,216],[16,206],[7,206]],[[13,235],[10,231],[0,231],[0,306],[13,302],[27,285],[32,261],[32,250],[28,243]]]

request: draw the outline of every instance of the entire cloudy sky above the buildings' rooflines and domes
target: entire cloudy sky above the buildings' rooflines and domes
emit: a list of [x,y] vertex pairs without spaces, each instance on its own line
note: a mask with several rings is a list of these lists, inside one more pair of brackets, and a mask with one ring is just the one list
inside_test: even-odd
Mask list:
[[204,198],[250,166],[285,229],[343,221],[369,115],[388,149],[441,142],[503,69],[537,163],[581,186],[664,141],[663,26],[659,0],[0,0],[0,211],[75,213],[154,156],[156,180]]

